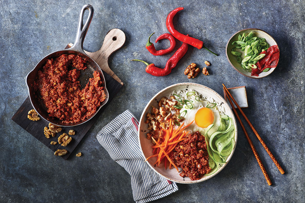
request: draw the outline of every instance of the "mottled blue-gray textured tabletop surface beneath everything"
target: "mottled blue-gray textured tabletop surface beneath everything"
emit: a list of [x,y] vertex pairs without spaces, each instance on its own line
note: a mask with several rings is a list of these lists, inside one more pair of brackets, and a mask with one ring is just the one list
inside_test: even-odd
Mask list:
[[[130,176],[97,142],[98,131],[117,114],[130,109],[139,119],[150,98],[169,85],[196,82],[223,95],[221,83],[247,88],[246,115],[285,170],[281,175],[246,125],[273,182],[268,186],[239,126],[239,139],[228,166],[216,177],[198,184],[178,184],[179,191],[156,202],[302,202],[304,201],[304,1],[21,1],[0,0],[0,202],[132,202]],[[125,45],[115,52],[110,68],[124,82],[119,94],[67,161],[55,157],[32,135],[11,120],[27,97],[25,77],[46,54],[73,42],[81,6],[95,13],[84,48],[96,51],[108,30],[120,28]],[[168,33],[165,20],[174,8],[176,28],[203,40],[219,53],[189,47],[165,77],[145,73],[139,58],[164,67],[166,56],[145,49],[147,37]],[[237,73],[225,56],[229,37],[256,27],[270,33],[281,50],[275,71],[263,79]],[[164,42],[163,42],[164,41]],[[157,48],[167,47],[162,40]],[[177,47],[180,46],[178,43]],[[188,80],[187,65],[211,62],[210,75]],[[74,154],[82,152],[83,156]]]

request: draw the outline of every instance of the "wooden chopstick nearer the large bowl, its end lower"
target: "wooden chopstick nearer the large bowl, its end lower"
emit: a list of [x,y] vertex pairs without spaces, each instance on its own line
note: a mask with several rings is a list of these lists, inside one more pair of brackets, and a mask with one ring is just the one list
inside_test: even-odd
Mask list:
[[250,145],[250,147],[251,147],[251,149],[252,149],[252,152],[253,152],[253,154],[254,154],[256,160],[257,160],[258,165],[260,165],[260,169],[262,170],[262,172],[263,172],[263,174],[264,174],[264,177],[265,177],[265,179],[267,180],[268,185],[272,185],[271,180],[270,180],[270,178],[269,178],[269,176],[268,176],[268,173],[267,173],[267,171],[266,171],[266,169],[265,169],[265,167],[264,167],[262,161],[260,160],[260,156],[258,156],[257,151],[256,151],[256,149],[255,149],[255,147],[254,147],[254,145],[253,145],[253,142],[251,141],[251,139],[250,139],[250,137],[249,137],[249,135],[248,135],[248,133],[247,133],[247,131],[246,131],[245,126],[242,124],[242,121],[240,120],[240,117],[239,117],[239,115],[238,115],[236,109],[234,108],[234,105],[233,105],[233,103],[232,103],[230,97],[228,96],[228,93],[227,93],[227,91],[226,91],[225,88],[224,88],[224,92],[226,93],[226,95],[227,95],[227,97],[228,97],[228,100],[229,100],[229,102],[230,102],[230,104],[231,104],[231,107],[232,107],[232,109],[233,109],[233,111],[234,111],[234,114],[235,114],[235,116],[237,117],[237,120],[239,121],[239,124],[240,124],[240,126],[242,127],[242,130],[244,131],[244,133],[245,133],[245,135],[246,135],[247,141],[249,142],[249,145]]

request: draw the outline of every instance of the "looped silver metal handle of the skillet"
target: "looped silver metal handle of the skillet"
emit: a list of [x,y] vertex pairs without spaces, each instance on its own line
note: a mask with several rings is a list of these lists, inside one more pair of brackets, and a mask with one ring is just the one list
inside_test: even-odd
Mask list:
[[[89,15],[86,20],[86,23],[83,24],[85,10],[89,11]],[[83,7],[81,8],[81,12],[79,13],[79,17],[78,17],[75,41],[73,46],[70,48],[70,50],[75,50],[85,53],[83,48],[83,43],[93,17],[93,12],[94,12],[93,7],[89,4],[83,5]]]

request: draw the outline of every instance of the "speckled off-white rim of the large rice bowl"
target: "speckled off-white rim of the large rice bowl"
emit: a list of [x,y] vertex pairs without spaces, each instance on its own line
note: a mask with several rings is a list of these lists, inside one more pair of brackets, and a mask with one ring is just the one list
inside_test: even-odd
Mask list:
[[216,176],[218,173],[220,173],[220,172],[224,169],[224,167],[227,166],[227,164],[229,163],[229,161],[231,160],[231,158],[232,158],[232,156],[233,156],[233,154],[234,154],[234,152],[235,152],[236,145],[237,145],[238,129],[237,129],[237,122],[236,122],[236,119],[235,119],[235,115],[234,115],[232,109],[230,108],[230,106],[228,105],[227,101],[225,101],[224,98],[223,98],[220,94],[218,94],[216,91],[214,91],[213,89],[211,89],[211,88],[209,88],[209,87],[207,87],[207,86],[204,86],[204,85],[201,85],[201,84],[198,84],[198,83],[182,82],[182,83],[177,83],[177,84],[173,84],[173,85],[167,86],[167,87],[165,87],[164,89],[162,89],[161,91],[159,91],[158,93],[156,93],[156,94],[149,100],[149,102],[146,104],[146,106],[145,106],[145,108],[144,108],[144,110],[143,110],[143,112],[142,112],[142,114],[141,114],[141,118],[140,118],[140,120],[139,120],[139,127],[138,127],[138,144],[139,144],[140,151],[141,151],[141,153],[142,153],[143,158],[146,159],[147,157],[145,157],[144,152],[143,152],[143,149],[142,149],[142,146],[141,146],[141,136],[142,136],[141,134],[143,134],[143,133],[140,131],[140,129],[141,129],[142,120],[146,117],[145,113],[147,112],[148,108],[150,107],[149,104],[150,104],[151,102],[153,102],[153,101],[156,99],[156,97],[158,97],[161,93],[163,93],[163,92],[166,91],[167,89],[170,89],[170,88],[172,88],[172,87],[174,87],[174,86],[182,86],[182,85],[189,85],[189,86],[195,85],[195,86],[201,86],[201,87],[203,87],[203,88],[208,89],[208,90],[211,91],[212,93],[216,94],[216,95],[222,100],[222,102],[224,103],[224,105],[227,105],[227,106],[228,106],[228,109],[229,109],[229,111],[231,112],[232,120],[233,120],[233,122],[234,122],[234,127],[235,127],[235,136],[234,136],[234,141],[235,141],[235,142],[234,142],[234,147],[233,147],[232,152],[231,152],[230,155],[228,156],[226,163],[224,163],[224,165],[222,165],[215,173],[211,174],[210,176],[203,176],[203,177],[202,177],[201,179],[199,179],[199,180],[189,180],[189,181],[173,180],[173,179],[171,179],[170,177],[167,177],[167,176],[165,176],[165,175],[159,173],[159,172],[158,172],[151,164],[149,164],[147,161],[145,162],[146,164],[149,165],[149,167],[150,167],[154,172],[156,172],[156,173],[159,174],[160,176],[166,178],[167,180],[170,180],[170,181],[173,181],[173,182],[176,182],[176,183],[181,183],[181,184],[194,184],[194,183],[199,183],[199,182],[203,182],[203,181],[205,181],[205,180],[208,180],[208,179],[210,179],[210,178]]

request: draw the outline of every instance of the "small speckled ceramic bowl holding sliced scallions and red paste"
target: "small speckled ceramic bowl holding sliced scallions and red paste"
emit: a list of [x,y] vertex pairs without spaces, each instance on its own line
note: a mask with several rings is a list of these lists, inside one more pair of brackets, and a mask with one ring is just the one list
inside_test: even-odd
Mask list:
[[260,29],[256,29],[256,28],[248,28],[248,29],[244,29],[244,30],[239,30],[237,33],[233,34],[233,36],[229,39],[227,46],[226,46],[226,55],[227,55],[227,59],[229,61],[229,63],[231,64],[231,66],[240,74],[245,75],[249,78],[264,78],[267,75],[270,75],[275,68],[270,68],[269,71],[267,72],[261,72],[258,76],[251,76],[251,73],[248,72],[247,70],[243,69],[241,64],[237,62],[236,60],[236,56],[234,56],[233,54],[231,54],[231,50],[235,47],[235,45],[232,45],[232,42],[237,41],[238,40],[238,36],[243,33],[245,33],[246,35],[248,35],[250,32],[254,33],[255,37],[260,37],[260,38],[265,38],[266,42],[271,46],[273,45],[278,45],[276,43],[276,41],[274,40],[273,37],[271,37],[270,34],[268,34],[267,32],[265,32],[264,30],[260,30]]

